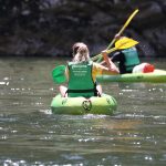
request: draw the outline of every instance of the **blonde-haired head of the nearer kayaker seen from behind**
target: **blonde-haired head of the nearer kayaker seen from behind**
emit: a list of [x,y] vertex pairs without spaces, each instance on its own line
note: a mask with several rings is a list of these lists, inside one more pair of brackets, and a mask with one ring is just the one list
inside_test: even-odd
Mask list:
[[74,62],[84,62],[90,60],[89,49],[86,44],[77,42],[72,46],[72,49]]

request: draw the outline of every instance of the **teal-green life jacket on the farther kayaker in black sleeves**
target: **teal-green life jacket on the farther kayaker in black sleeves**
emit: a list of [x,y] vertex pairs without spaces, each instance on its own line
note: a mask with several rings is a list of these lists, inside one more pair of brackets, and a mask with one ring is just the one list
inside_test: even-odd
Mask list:
[[133,68],[139,64],[138,54],[136,48],[129,48],[122,51],[125,55],[125,66],[126,71],[132,71]]

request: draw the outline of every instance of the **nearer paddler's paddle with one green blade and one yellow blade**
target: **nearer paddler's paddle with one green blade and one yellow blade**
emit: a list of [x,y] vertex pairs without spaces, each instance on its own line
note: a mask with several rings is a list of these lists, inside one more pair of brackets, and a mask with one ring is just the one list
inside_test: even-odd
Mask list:
[[[118,40],[115,43],[115,48],[110,49],[106,52],[111,53],[111,52],[113,52],[115,50],[118,50],[118,49],[128,49],[128,48],[132,48],[132,46],[136,45],[137,43],[138,42],[133,40],[133,39],[122,38],[121,40]],[[100,58],[100,56],[102,56],[102,54],[98,54],[97,58]],[[66,81],[66,77],[65,77],[65,65],[59,65],[55,69],[53,69],[52,77],[53,77],[53,81],[55,83],[58,83],[58,84],[64,83]]]

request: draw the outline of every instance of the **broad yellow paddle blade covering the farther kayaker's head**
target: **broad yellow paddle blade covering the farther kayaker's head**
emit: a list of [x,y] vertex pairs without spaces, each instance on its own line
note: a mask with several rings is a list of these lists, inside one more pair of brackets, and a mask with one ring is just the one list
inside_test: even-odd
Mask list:
[[124,38],[120,39],[117,42],[115,42],[115,48],[120,49],[120,50],[121,49],[123,50],[123,49],[129,49],[129,48],[132,48],[136,44],[138,44],[137,41],[124,37]]

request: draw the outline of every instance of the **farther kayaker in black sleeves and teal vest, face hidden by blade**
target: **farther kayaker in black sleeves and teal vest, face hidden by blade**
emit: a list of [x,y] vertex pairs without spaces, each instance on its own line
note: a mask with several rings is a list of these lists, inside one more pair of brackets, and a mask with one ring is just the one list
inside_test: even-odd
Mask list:
[[[122,38],[124,37],[121,37],[120,34],[115,35],[116,40],[120,40]],[[117,51],[113,55],[110,54],[108,56],[111,56],[111,60],[113,62],[118,62],[118,69],[120,69],[121,74],[132,73],[133,68],[141,63],[138,53],[135,46],[132,46],[129,49],[125,49],[122,51]]]

